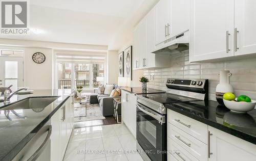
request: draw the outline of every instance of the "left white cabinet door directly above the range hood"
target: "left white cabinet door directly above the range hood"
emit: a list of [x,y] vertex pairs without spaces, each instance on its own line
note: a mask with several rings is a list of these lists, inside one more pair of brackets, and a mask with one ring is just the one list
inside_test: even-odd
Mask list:
[[168,38],[168,28],[170,25],[170,0],[160,0],[156,4],[156,44]]

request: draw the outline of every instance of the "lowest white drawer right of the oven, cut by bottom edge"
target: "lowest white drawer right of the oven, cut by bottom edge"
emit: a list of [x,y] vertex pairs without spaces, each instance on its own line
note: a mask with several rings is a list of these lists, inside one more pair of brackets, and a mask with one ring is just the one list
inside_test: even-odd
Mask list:
[[[168,149],[172,151],[177,151],[171,155],[173,155],[177,160],[180,161],[199,161],[196,157],[188,153],[185,149],[183,149],[180,145],[178,145],[175,141],[168,138]],[[173,161],[173,160],[171,160]]]

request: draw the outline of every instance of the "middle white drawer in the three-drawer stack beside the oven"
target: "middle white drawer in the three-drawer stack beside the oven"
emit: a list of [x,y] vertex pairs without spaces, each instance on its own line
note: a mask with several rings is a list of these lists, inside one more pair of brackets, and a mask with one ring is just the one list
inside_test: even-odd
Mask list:
[[195,156],[198,160],[203,161],[208,159],[208,146],[206,144],[170,123],[168,123],[168,137]]

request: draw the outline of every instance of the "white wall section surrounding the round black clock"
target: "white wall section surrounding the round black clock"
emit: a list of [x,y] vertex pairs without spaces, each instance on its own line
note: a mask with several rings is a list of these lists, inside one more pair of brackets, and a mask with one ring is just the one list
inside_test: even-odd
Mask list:
[[[37,64],[32,60],[35,52],[44,53],[46,61]],[[25,48],[24,56],[24,86],[30,89],[53,88],[53,49]]]

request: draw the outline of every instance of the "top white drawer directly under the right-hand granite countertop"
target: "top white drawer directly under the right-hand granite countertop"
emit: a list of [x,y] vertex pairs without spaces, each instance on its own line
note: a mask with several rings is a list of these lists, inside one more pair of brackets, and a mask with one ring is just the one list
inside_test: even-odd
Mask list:
[[179,127],[203,143],[208,143],[208,126],[175,111],[168,110],[168,122]]

